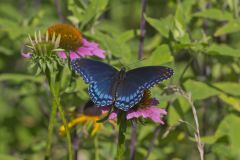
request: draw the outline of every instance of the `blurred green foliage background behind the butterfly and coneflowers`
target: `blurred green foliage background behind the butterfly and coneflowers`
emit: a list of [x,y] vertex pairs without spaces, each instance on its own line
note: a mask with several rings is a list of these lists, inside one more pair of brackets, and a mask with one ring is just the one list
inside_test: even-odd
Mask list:
[[[154,87],[152,95],[168,110],[166,124],[138,125],[135,159],[198,160],[194,119],[189,102],[165,92],[174,85],[191,93],[197,109],[206,160],[240,160],[240,1],[148,0],[144,57],[136,63],[141,17],[140,0],[9,0],[0,1],[0,159],[43,159],[51,106],[44,77],[34,76],[21,49],[28,34],[55,23],[79,27],[107,51],[106,62],[119,60],[135,68],[167,65],[174,76]],[[86,103],[79,78],[62,84],[66,112]],[[182,120],[187,123],[182,123]],[[66,159],[65,139],[55,128],[53,159]],[[82,131],[79,131],[82,135]],[[130,146],[131,127],[127,134]],[[116,131],[106,125],[96,137],[79,136],[79,159],[114,159]],[[153,139],[153,137],[155,137]],[[96,142],[98,142],[96,144]],[[152,146],[152,149],[151,149]],[[150,151],[150,152],[149,152]],[[127,150],[126,159],[128,159]]]

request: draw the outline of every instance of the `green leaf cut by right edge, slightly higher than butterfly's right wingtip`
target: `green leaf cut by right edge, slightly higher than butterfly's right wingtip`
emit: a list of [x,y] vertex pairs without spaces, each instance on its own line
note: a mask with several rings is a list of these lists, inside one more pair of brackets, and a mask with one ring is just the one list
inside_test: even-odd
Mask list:
[[240,50],[231,48],[226,44],[213,44],[207,48],[207,54],[240,57]]

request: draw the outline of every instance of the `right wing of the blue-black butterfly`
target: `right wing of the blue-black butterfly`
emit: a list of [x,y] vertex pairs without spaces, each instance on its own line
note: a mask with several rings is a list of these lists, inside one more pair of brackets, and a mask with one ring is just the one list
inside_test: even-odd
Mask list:
[[141,100],[144,90],[172,75],[171,68],[162,66],[147,66],[128,71],[126,78],[118,86],[115,106],[124,111],[129,110]]

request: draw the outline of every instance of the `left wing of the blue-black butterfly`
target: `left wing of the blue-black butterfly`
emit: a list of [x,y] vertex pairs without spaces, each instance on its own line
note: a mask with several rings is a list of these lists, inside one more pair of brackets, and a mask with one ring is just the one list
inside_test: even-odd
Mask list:
[[90,59],[75,59],[71,61],[72,69],[89,83],[88,92],[96,106],[113,104],[111,86],[114,83],[117,70],[112,66]]

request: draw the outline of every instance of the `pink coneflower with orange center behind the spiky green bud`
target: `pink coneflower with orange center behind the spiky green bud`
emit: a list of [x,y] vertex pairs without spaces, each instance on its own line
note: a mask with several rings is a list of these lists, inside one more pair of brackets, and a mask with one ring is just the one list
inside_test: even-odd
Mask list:
[[[58,41],[55,45],[56,40]],[[55,53],[57,53],[58,57],[61,59],[67,59],[68,56],[70,59],[86,56],[97,56],[102,59],[105,58],[105,51],[99,48],[97,43],[89,42],[86,38],[83,38],[82,33],[70,24],[56,24],[50,26],[46,35],[35,34],[35,39],[32,40],[30,38],[30,41],[30,47],[32,48],[37,48],[35,46],[40,42],[52,43],[54,46],[52,48],[53,50],[57,48],[59,49],[55,51]],[[42,45],[40,47],[42,47]],[[40,49],[44,51],[45,48],[42,47]],[[31,58],[34,52],[22,52],[21,54],[24,58]]]

